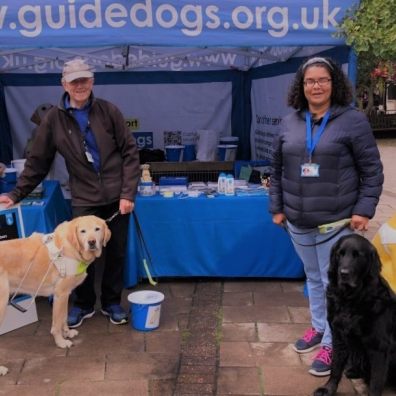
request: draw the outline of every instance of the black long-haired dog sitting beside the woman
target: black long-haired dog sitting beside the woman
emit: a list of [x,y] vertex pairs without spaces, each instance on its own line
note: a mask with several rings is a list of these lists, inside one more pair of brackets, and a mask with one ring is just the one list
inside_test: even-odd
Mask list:
[[396,367],[396,296],[381,277],[381,262],[366,238],[340,238],[330,255],[328,321],[333,361],[327,383],[314,396],[334,395],[346,364],[380,396]]

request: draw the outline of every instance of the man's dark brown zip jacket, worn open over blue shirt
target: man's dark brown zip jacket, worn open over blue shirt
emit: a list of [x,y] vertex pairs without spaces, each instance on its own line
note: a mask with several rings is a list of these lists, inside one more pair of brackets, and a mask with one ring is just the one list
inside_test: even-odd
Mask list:
[[91,95],[89,123],[100,152],[96,172],[85,155],[84,137],[77,121],[64,107],[51,108],[37,129],[25,169],[15,190],[15,202],[28,195],[45,178],[58,151],[65,159],[74,206],[107,205],[125,198],[135,200],[140,177],[135,139],[118,108]]

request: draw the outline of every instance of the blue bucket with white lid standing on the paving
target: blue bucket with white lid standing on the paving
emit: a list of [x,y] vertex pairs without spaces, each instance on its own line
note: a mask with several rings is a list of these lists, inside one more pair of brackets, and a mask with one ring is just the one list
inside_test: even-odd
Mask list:
[[161,303],[165,296],[154,290],[140,290],[129,294],[131,325],[139,331],[151,331],[159,327]]

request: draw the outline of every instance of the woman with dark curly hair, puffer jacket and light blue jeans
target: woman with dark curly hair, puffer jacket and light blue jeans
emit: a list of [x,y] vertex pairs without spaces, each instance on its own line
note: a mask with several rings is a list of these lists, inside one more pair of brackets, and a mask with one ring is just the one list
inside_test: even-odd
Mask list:
[[366,116],[350,105],[352,89],[331,59],[313,57],[298,69],[287,115],[273,142],[270,212],[285,225],[307,277],[311,327],[294,350],[315,348],[309,372],[330,374],[332,339],[326,311],[332,245],[365,231],[382,191],[383,172]]

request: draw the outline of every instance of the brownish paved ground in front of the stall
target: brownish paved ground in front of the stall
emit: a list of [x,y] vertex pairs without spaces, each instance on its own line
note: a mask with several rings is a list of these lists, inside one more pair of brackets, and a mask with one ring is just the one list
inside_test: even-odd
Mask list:
[[[385,187],[368,238],[396,209],[396,140],[379,145]],[[97,314],[67,351],[55,347],[50,307],[38,299],[39,322],[0,337],[10,368],[0,395],[310,395],[324,380],[307,372],[312,355],[291,349],[309,323],[302,289],[302,281],[161,280],[159,329],[138,332]],[[355,394],[344,379],[339,395]]]

